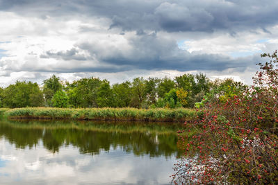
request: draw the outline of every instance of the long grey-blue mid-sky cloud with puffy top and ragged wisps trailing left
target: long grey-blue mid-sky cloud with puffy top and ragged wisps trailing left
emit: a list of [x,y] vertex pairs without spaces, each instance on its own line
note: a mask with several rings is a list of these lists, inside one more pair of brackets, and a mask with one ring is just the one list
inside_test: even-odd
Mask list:
[[[136,35],[129,40],[131,45],[130,51],[119,51],[113,49],[103,48],[94,43],[81,43],[79,50],[90,53],[95,56],[95,60],[103,64],[100,67],[71,67],[75,64],[70,61],[67,67],[62,68],[47,68],[46,71],[58,72],[120,72],[129,71],[133,69],[145,70],[177,70],[177,71],[191,71],[191,70],[212,70],[223,71],[224,69],[236,69],[236,71],[244,71],[247,67],[254,66],[259,62],[259,55],[248,58],[230,58],[225,55],[217,54],[200,54],[189,53],[178,48],[176,42],[172,39],[163,39],[157,37],[156,34],[150,35]],[[106,50],[108,52],[106,52]],[[75,49],[67,52],[47,52],[44,58],[69,57],[75,54]],[[70,54],[66,54],[70,53]],[[41,56],[42,57],[42,56]],[[92,57],[90,57],[92,60]],[[74,60],[74,58],[72,58]],[[95,63],[94,60],[91,61]],[[28,69],[30,70],[30,69]],[[42,69],[41,69],[42,70]]]

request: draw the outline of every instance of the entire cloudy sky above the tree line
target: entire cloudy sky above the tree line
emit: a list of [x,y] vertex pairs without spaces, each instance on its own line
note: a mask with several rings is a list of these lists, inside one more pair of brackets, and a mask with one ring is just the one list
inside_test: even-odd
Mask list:
[[0,87],[206,73],[252,83],[278,49],[275,0],[0,0]]

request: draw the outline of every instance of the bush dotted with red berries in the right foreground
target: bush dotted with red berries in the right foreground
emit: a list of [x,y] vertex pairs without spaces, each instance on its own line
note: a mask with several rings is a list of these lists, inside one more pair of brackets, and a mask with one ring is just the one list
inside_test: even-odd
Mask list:
[[[263,54],[254,85],[218,85],[197,104],[193,136],[180,135],[185,157],[174,167],[175,184],[276,184],[278,182],[277,51]],[[190,143],[184,141],[190,140]]]

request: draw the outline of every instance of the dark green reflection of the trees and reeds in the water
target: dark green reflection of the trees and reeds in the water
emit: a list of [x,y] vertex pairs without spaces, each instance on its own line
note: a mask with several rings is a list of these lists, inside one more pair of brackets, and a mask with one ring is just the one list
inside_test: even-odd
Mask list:
[[8,121],[0,122],[0,136],[16,148],[34,148],[42,141],[55,153],[74,146],[81,154],[97,155],[120,147],[124,152],[149,157],[181,155],[176,131],[180,123],[123,123],[81,121]]

